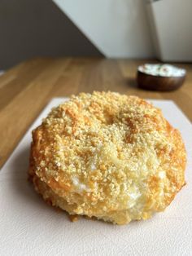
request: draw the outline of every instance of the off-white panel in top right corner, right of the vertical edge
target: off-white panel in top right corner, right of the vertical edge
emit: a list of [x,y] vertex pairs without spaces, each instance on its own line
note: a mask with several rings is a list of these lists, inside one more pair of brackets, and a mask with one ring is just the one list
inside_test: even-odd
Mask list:
[[158,1],[147,7],[159,59],[191,62],[192,0]]

